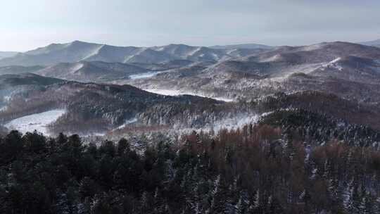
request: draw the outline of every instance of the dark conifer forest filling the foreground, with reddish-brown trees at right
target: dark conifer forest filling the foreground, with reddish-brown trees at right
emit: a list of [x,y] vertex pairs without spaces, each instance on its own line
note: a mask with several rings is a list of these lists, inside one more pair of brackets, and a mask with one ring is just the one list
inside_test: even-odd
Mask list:
[[12,131],[0,213],[379,213],[380,152],[311,132],[246,125],[137,152],[127,139]]

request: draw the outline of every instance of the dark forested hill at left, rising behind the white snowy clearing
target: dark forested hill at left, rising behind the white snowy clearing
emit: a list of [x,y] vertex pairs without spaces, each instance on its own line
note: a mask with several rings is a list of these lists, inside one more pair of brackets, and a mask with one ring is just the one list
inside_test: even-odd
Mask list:
[[[34,74],[1,75],[0,124],[62,113],[50,132],[105,133],[118,127],[199,128],[239,113],[228,103],[199,96],[163,96],[129,85],[59,80]],[[1,106],[0,106],[1,107]],[[210,115],[213,115],[210,117]],[[27,124],[34,125],[33,122]]]

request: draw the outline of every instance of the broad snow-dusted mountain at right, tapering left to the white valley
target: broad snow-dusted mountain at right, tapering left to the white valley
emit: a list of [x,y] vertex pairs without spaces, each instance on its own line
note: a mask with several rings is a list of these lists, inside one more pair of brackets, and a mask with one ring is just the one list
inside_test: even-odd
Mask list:
[[316,90],[380,103],[380,49],[347,42],[281,46],[213,65],[177,68],[143,80],[146,89],[175,89],[231,99]]

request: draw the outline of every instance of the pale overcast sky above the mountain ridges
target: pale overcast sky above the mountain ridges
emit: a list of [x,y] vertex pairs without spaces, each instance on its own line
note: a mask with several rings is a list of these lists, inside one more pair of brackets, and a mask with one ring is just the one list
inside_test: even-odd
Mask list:
[[0,51],[73,40],[208,46],[374,39],[380,39],[379,0],[2,0],[0,6]]

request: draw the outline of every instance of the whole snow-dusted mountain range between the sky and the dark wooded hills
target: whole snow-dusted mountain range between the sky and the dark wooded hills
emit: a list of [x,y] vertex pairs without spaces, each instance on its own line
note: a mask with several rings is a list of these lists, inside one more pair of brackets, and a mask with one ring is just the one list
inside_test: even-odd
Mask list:
[[[0,75],[35,73],[80,82],[197,91],[232,99],[309,88],[379,102],[375,92],[380,84],[379,62],[379,48],[348,42],[213,49],[184,44],[118,47],[75,41],[3,58],[0,65],[15,65],[0,66]],[[343,85],[353,90],[343,89]]]

